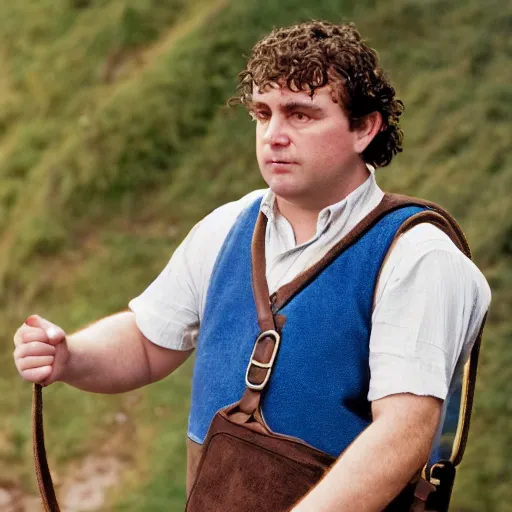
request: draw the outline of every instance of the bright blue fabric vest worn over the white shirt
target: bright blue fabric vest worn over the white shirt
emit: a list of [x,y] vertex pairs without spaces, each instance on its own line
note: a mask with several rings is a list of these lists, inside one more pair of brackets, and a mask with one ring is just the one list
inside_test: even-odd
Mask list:
[[[188,428],[198,443],[215,413],[242,397],[260,333],[251,284],[260,202],[235,222],[208,289]],[[261,407],[274,432],[337,457],[371,422],[369,339],[377,276],[399,227],[423,209],[388,213],[279,311],[286,322]]]

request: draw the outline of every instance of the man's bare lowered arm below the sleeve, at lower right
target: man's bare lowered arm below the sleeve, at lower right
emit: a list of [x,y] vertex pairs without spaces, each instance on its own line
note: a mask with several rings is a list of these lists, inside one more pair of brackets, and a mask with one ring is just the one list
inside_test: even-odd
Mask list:
[[425,464],[440,407],[424,420],[399,413],[374,421],[293,512],[381,512]]

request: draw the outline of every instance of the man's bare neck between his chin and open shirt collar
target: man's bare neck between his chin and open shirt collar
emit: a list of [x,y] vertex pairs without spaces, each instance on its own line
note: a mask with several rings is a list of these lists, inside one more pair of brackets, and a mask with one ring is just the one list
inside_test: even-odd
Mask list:
[[339,203],[349,194],[361,186],[368,178],[369,171],[363,164],[351,174],[350,180],[344,180],[341,186],[323,198],[309,195],[306,200],[301,198],[284,198],[276,194],[276,204],[279,212],[285,217],[293,228],[295,243],[300,245],[307,242],[316,233],[318,214],[327,206]]

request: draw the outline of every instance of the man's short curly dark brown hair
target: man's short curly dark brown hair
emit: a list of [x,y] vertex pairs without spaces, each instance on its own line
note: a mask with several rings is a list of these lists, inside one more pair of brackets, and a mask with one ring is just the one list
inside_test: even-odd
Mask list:
[[375,50],[361,38],[353,23],[336,25],[312,20],[273,30],[256,43],[247,67],[239,74],[238,95],[230,105],[249,106],[253,84],[264,90],[272,82],[292,91],[309,91],[333,86],[333,100],[340,103],[350,127],[366,115],[380,112],[382,130],[363,152],[363,160],[385,167],[402,151],[403,132],[399,118],[404,104],[384,74]]

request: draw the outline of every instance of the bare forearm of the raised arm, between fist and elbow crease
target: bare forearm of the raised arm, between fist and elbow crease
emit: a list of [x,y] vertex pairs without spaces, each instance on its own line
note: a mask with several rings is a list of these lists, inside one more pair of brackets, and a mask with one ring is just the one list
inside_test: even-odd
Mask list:
[[151,382],[133,313],[104,318],[67,337],[69,360],[59,380],[94,393],[121,393]]

